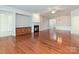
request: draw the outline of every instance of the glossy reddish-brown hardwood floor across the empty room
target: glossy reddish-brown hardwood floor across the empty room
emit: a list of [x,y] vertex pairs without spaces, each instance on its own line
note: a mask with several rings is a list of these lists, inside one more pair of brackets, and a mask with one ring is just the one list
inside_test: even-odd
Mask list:
[[0,38],[1,54],[78,54],[79,36],[68,31],[47,30],[39,33]]

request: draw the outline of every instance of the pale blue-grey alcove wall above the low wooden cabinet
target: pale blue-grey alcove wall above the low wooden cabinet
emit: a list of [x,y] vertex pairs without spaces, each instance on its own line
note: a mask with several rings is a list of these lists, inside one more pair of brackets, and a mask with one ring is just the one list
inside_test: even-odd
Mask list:
[[16,14],[16,27],[31,27],[31,16]]

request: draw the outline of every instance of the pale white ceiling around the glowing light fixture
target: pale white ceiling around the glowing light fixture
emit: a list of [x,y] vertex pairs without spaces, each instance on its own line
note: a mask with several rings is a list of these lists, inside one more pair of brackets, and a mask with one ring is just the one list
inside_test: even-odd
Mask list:
[[[79,8],[79,5],[7,5],[30,13],[49,15],[50,10],[57,10],[56,14],[67,14],[69,11]],[[60,13],[61,12],[61,13]],[[64,13],[65,12],[65,13]]]

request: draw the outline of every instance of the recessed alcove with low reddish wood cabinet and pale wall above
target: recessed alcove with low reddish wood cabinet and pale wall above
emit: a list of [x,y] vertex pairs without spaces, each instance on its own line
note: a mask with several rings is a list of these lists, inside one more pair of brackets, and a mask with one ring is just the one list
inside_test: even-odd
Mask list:
[[31,34],[31,16],[16,14],[16,35]]

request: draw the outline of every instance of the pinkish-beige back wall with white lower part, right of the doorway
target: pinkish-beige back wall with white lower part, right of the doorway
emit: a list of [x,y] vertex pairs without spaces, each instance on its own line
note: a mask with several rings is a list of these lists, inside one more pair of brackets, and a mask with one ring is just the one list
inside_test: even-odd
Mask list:
[[57,16],[56,29],[58,30],[70,30],[71,29],[71,16]]

